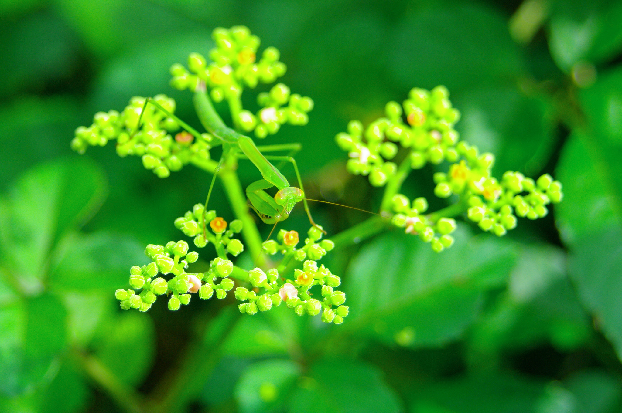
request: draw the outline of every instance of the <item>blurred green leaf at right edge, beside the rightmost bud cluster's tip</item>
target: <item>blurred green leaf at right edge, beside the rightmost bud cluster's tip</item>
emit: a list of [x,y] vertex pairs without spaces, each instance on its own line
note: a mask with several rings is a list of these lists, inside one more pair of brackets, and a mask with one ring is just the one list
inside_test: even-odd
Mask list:
[[575,130],[565,143],[556,178],[564,184],[564,201],[555,206],[557,227],[562,240],[575,245],[580,238],[622,223],[620,152],[602,147],[595,138]]

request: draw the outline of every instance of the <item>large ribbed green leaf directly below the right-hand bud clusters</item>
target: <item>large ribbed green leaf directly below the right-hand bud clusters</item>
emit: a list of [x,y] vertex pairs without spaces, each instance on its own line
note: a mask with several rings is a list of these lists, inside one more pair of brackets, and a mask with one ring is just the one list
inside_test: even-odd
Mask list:
[[[361,248],[346,278],[350,315],[343,325],[411,347],[456,338],[475,319],[481,292],[504,283],[513,245],[488,234],[455,232],[440,254],[419,237],[393,232]],[[350,326],[350,327],[348,327]]]

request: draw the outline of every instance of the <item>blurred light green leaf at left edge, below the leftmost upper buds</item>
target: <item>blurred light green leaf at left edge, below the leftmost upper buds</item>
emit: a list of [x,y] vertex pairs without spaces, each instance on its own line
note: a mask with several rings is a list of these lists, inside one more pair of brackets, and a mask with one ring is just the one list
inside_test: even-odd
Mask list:
[[103,173],[85,158],[44,163],[12,186],[0,214],[0,259],[27,292],[42,288],[58,239],[93,216],[105,188]]

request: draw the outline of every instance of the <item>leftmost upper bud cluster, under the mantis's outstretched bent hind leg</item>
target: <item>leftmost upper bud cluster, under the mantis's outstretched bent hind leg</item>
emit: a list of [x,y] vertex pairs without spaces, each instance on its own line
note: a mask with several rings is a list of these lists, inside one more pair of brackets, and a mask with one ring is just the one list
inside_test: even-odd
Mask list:
[[[154,101],[170,114],[175,112],[174,99],[159,94]],[[104,146],[108,140],[116,139],[116,151],[120,157],[142,157],[145,168],[160,178],[167,178],[170,171],[179,171],[191,161],[210,159],[208,142],[212,140],[211,135],[202,134],[202,140],[193,142],[194,137],[185,131],[172,137],[170,133],[176,130],[179,125],[174,119],[165,116],[154,105],[145,106],[145,98],[134,96],[121,114],[117,111],[97,112],[90,127],[78,127],[71,147],[84,153],[89,145]]]

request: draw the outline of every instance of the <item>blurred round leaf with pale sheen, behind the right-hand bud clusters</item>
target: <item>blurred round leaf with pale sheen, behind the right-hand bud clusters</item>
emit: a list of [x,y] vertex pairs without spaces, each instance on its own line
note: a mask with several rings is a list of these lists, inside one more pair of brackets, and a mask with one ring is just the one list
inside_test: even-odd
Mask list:
[[485,86],[460,95],[453,105],[462,112],[460,138],[494,154],[494,176],[508,170],[534,175],[549,160],[554,136],[543,101],[516,88]]

